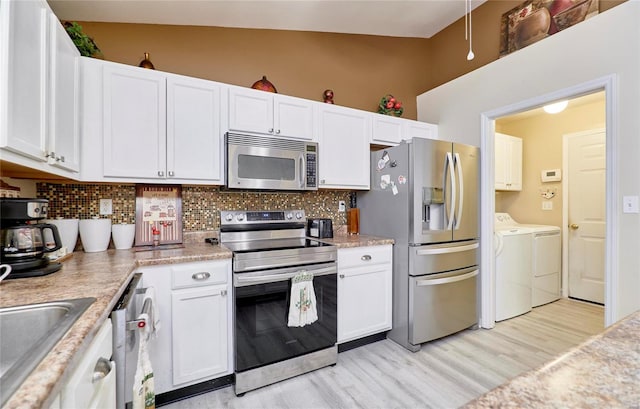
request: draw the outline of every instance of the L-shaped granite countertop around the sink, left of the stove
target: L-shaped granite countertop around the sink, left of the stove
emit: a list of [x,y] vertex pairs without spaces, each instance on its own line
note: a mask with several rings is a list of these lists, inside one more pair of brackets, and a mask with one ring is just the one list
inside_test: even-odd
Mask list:
[[[109,317],[137,267],[230,259],[223,246],[189,243],[183,248],[151,251],[107,250],[75,252],[60,271],[44,277],[4,280],[0,283],[0,307],[94,297],[65,336],[7,401],[5,408],[40,408],[51,403]],[[3,334],[6,336],[6,334]]]

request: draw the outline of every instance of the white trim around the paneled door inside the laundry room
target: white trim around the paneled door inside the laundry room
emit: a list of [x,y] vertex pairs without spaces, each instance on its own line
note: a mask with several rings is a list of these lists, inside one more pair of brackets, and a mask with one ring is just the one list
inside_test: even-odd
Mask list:
[[[569,186],[571,185],[571,180],[569,177],[569,138],[573,137],[581,137],[587,136],[594,133],[607,132],[606,125],[597,126],[593,129],[589,129],[586,131],[580,132],[572,132],[568,134],[562,135],[562,173],[564,174],[562,178],[562,296],[569,297],[569,195],[567,192],[569,191]],[[606,137],[605,137],[605,152],[606,151]],[[608,161],[609,158],[607,157]],[[605,172],[609,163],[605,163]],[[605,173],[606,174],[606,173]],[[605,185],[608,185],[608,181],[605,181]],[[607,192],[607,187],[605,186],[605,194]],[[605,205],[606,207],[606,205]],[[605,209],[606,213],[606,209]],[[606,217],[606,215],[605,215]],[[608,220],[606,221],[608,224]],[[607,232],[608,234],[608,232]],[[605,237],[605,243],[607,238]],[[606,244],[605,244],[606,246]],[[606,273],[605,273],[605,287],[606,287]],[[605,290],[606,293],[606,290]],[[606,295],[605,295],[606,300]],[[606,301],[605,301],[606,305]]]

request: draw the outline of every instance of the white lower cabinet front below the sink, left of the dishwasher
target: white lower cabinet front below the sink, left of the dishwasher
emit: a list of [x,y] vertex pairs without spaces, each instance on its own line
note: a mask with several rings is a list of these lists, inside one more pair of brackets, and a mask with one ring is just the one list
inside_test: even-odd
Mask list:
[[111,320],[106,320],[60,392],[60,407],[116,407],[116,368],[115,362],[110,361],[112,345]]

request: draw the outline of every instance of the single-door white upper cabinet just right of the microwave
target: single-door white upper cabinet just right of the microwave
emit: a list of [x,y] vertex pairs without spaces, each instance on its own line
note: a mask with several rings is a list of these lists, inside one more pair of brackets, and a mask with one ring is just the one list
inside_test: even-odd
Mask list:
[[319,187],[369,189],[371,113],[318,104]]

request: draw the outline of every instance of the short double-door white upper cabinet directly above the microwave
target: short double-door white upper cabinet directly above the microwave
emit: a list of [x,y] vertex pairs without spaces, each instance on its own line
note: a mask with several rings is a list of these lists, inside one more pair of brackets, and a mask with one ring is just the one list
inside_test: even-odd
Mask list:
[[313,101],[230,87],[229,130],[315,140]]

